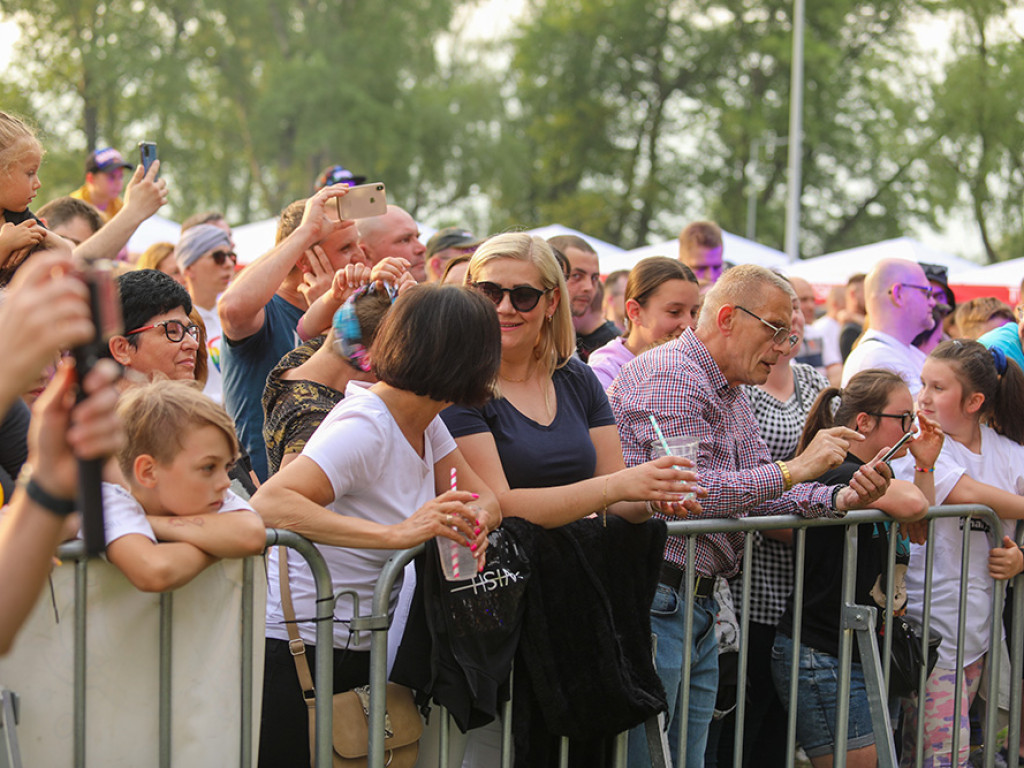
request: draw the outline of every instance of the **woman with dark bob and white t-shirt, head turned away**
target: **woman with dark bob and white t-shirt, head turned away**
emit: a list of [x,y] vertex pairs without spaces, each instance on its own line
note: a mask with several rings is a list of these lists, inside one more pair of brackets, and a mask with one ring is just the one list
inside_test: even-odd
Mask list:
[[[371,604],[389,550],[445,537],[468,546],[482,566],[487,534],[501,522],[495,495],[437,416],[452,403],[476,406],[492,396],[501,364],[494,305],[464,288],[417,286],[385,316],[370,360],[379,381],[350,382],[302,454],[252,498],[268,526],[311,540],[335,590],[355,590],[362,605]],[[453,470],[458,490],[451,489]],[[280,562],[272,553],[263,685],[263,722],[272,727],[260,734],[259,764],[308,765],[306,707],[281,621]],[[287,568],[299,634],[312,659],[312,575],[302,558],[292,558]],[[399,579],[392,612],[400,587]],[[370,679],[369,636],[352,642],[351,605],[340,600],[335,607],[335,693]]]

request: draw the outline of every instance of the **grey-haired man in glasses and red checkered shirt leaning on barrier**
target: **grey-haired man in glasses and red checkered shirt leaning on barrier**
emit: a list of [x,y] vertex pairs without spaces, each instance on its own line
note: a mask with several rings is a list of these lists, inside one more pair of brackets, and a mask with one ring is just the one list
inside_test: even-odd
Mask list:
[[[700,439],[696,469],[708,496],[705,515],[740,517],[798,513],[805,517],[842,517],[847,510],[870,507],[889,484],[886,469],[864,465],[849,485],[827,486],[811,480],[838,466],[851,440],[863,437],[846,427],[819,432],[800,456],[772,462],[759,436],[758,423],[740,384],[763,384],[779,355],[794,343],[790,329],[793,288],[756,265],[726,272],[708,293],[695,330],[650,350],[623,369],[608,391],[618,424],[627,465],[652,458],[656,439],[653,416],[666,435]],[[659,515],[662,516],[662,515]],[[662,565],[662,584],[651,606],[656,664],[669,699],[669,743],[678,743],[681,713],[676,708],[683,658],[691,657],[685,762],[703,765],[705,744],[718,689],[718,648],[712,597],[716,575],[739,569],[741,534],[697,537],[693,639],[684,647],[685,544],[670,537]],[[642,729],[630,734],[630,766],[649,766]]]

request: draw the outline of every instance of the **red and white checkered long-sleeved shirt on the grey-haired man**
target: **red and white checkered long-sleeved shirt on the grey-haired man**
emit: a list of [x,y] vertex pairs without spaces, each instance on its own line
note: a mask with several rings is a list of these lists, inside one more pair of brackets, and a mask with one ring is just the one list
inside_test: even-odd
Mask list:
[[[625,366],[608,390],[608,399],[627,466],[653,458],[651,443],[657,436],[650,415],[666,436],[700,439],[696,470],[700,484],[708,488],[708,497],[700,501],[706,517],[836,514],[834,488],[828,485],[804,482],[782,493],[782,472],[760,437],[750,403],[738,386],[729,386],[693,331],[687,330]],[[742,534],[696,537],[696,572],[735,574],[742,546]],[[665,559],[685,567],[685,540],[669,537]]]

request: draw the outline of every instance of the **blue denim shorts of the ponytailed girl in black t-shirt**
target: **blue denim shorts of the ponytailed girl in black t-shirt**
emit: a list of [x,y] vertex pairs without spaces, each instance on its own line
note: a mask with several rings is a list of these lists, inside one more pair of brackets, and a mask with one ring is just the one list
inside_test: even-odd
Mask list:
[[[793,639],[778,633],[771,649],[771,674],[782,705],[790,707],[790,670]],[[800,648],[797,683],[797,740],[807,757],[835,753],[836,701],[839,698],[839,658],[806,645]],[[871,711],[859,664],[850,666],[850,718],[846,749],[859,750],[874,743]]]

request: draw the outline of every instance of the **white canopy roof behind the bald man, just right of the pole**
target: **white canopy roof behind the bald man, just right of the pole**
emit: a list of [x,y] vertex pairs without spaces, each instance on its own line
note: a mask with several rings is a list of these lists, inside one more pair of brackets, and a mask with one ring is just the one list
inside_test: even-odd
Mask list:
[[978,266],[973,261],[930,248],[912,238],[896,238],[795,262],[787,267],[786,274],[803,278],[816,285],[839,286],[857,272],[870,271],[871,267],[882,259],[907,259],[923,261],[926,264],[942,264],[948,267],[950,275]]

